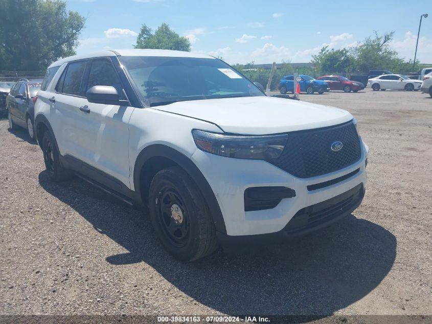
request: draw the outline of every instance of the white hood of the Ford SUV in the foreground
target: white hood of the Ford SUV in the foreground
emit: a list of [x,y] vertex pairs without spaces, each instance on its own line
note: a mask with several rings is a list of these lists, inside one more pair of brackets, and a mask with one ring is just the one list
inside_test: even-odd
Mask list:
[[151,109],[208,121],[225,133],[245,135],[320,128],[353,118],[334,107],[264,96],[180,101]]

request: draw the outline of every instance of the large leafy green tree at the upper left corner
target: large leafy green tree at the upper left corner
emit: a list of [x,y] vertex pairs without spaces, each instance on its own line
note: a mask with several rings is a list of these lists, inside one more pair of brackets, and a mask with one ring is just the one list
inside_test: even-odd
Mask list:
[[0,70],[42,70],[76,54],[84,24],[60,0],[0,0]]

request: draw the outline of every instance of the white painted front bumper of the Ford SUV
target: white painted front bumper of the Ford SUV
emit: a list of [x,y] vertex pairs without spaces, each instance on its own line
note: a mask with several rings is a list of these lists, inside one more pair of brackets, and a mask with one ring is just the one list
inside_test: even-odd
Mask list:
[[[215,193],[226,235],[243,236],[280,232],[300,210],[342,195],[358,185],[364,189],[367,181],[367,150],[366,145],[361,145],[360,159],[348,167],[306,179],[294,177],[266,161],[224,158],[199,149],[191,159]],[[334,179],[349,174],[353,175],[332,183]],[[323,183],[330,184],[321,187]],[[244,191],[249,187],[264,186],[290,188],[295,190],[295,197],[282,199],[271,209],[245,211]],[[317,188],[311,190],[313,186]]]

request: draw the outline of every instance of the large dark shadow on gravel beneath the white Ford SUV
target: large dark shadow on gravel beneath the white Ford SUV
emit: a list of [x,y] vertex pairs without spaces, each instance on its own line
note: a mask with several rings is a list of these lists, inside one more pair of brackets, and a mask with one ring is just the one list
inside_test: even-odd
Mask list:
[[114,202],[107,193],[78,179],[60,184],[59,190],[42,171],[39,183],[95,231],[129,251],[101,256],[106,262],[145,262],[197,302],[226,314],[330,315],[370,293],[395,261],[396,237],[349,215],[332,227],[281,246],[240,255],[219,250],[197,262],[181,263],[161,247],[142,210]]

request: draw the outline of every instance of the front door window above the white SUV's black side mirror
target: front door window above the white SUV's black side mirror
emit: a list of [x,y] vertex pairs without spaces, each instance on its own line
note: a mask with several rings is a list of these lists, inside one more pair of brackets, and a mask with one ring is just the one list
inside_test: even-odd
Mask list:
[[117,89],[119,94],[123,93],[120,78],[108,59],[95,59],[92,61],[86,91],[95,85],[111,85],[111,87]]

